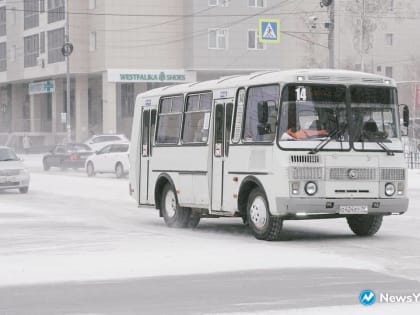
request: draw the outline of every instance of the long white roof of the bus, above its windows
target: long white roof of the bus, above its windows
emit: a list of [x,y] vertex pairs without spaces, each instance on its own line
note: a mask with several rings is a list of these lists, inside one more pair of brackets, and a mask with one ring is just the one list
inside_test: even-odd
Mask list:
[[231,75],[215,80],[169,85],[143,92],[138,98],[153,99],[165,95],[194,93],[208,90],[230,89],[263,85],[274,82],[371,84],[396,86],[395,80],[371,73],[336,69],[266,70],[247,75]]

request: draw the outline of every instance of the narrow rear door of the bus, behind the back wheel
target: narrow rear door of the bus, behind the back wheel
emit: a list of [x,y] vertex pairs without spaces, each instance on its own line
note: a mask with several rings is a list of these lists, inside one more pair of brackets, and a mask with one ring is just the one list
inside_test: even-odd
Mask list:
[[149,188],[151,175],[150,163],[155,138],[156,109],[144,109],[141,117],[139,196],[140,204],[151,204],[152,193]]

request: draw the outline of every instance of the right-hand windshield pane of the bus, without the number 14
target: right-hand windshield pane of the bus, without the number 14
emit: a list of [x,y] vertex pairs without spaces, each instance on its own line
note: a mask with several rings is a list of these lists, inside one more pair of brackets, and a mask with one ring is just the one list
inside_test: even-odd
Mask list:
[[365,142],[392,142],[399,138],[395,89],[354,86],[350,94],[350,137],[356,148]]

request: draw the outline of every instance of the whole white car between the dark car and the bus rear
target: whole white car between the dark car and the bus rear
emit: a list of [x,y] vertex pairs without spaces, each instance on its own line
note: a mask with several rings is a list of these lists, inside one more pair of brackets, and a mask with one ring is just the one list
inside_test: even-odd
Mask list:
[[96,173],[115,173],[118,178],[128,174],[129,143],[109,144],[86,160],[86,173],[89,177]]

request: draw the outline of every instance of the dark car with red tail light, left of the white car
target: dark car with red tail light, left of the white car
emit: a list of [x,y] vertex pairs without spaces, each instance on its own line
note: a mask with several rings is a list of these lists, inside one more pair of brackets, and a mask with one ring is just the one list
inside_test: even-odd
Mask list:
[[59,144],[44,155],[42,164],[45,171],[51,167],[62,170],[84,168],[86,158],[92,153],[92,149],[84,143]]

